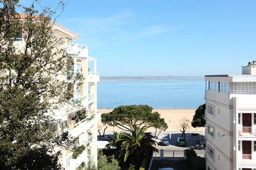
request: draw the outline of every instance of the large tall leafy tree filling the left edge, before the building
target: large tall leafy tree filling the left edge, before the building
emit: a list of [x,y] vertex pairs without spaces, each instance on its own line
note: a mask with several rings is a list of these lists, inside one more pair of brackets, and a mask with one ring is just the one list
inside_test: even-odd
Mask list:
[[[0,0],[0,169],[59,169],[58,153],[49,153],[68,142],[67,133],[49,131],[52,117],[45,113],[72,97],[76,78],[58,79],[69,70],[63,48],[69,38],[54,36],[56,11],[38,6],[39,12],[37,2],[20,15],[18,0]],[[19,47],[15,37],[21,34]]]

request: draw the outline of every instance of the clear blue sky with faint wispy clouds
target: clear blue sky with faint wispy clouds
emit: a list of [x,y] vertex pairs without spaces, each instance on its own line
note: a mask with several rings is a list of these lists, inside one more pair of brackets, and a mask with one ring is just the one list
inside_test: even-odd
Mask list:
[[256,60],[254,0],[65,2],[57,22],[81,35],[102,77],[241,74]]

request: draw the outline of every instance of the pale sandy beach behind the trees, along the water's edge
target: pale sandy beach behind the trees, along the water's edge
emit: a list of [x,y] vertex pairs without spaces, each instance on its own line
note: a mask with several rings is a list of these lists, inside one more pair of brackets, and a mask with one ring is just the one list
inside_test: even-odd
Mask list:
[[[100,115],[102,113],[109,113],[112,109],[99,109]],[[166,131],[179,131],[180,129],[180,120],[182,118],[187,118],[190,123],[190,128],[188,131],[197,131],[202,132],[204,128],[193,128],[191,126],[191,121],[193,120],[193,115],[195,114],[196,108],[194,109],[154,109],[154,111],[161,114],[161,117],[165,119],[165,122],[168,125],[168,129]],[[170,122],[171,121],[171,122]],[[101,120],[98,122],[99,127],[102,126]],[[116,127],[108,127],[106,132],[118,131]],[[153,128],[149,129],[149,131],[154,131]]]

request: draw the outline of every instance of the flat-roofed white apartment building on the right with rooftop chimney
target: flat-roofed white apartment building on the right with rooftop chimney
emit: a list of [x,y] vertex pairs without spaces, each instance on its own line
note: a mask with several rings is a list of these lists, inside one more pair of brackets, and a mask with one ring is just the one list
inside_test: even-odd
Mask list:
[[206,169],[256,169],[256,61],[241,75],[205,75]]

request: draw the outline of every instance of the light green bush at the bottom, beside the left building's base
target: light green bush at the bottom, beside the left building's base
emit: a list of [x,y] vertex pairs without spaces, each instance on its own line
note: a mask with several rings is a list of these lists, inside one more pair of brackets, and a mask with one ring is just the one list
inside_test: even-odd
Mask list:
[[113,157],[107,157],[102,152],[98,152],[98,170],[119,170],[118,161]]

